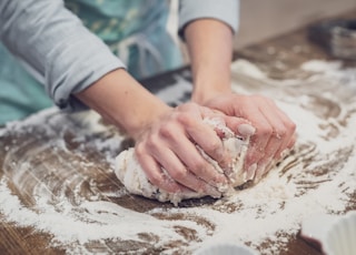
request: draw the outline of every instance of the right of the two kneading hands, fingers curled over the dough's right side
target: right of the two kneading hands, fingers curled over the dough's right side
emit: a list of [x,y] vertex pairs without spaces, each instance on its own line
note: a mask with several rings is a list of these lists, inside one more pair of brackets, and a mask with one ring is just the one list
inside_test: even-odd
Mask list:
[[245,160],[248,178],[260,178],[295,143],[296,124],[268,98],[226,93],[210,99],[205,105],[244,118],[256,129]]

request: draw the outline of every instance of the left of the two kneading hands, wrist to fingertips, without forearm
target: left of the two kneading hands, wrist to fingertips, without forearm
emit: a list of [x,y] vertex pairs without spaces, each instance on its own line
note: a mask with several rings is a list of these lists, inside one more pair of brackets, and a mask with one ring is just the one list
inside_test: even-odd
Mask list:
[[231,159],[222,147],[219,133],[204,123],[205,118],[222,118],[229,129],[240,130],[243,136],[249,135],[239,129],[247,123],[243,119],[225,116],[196,103],[169,108],[135,137],[136,156],[154,185],[172,193],[190,188],[212,197],[220,196],[218,187],[228,181],[201,156],[196,145],[222,170]]

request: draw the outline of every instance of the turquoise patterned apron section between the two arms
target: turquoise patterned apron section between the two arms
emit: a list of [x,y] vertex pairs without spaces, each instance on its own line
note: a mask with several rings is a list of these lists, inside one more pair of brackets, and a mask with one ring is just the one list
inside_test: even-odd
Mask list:
[[166,29],[169,1],[65,2],[123,61],[135,78],[146,78],[182,63],[181,53]]

